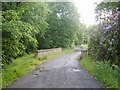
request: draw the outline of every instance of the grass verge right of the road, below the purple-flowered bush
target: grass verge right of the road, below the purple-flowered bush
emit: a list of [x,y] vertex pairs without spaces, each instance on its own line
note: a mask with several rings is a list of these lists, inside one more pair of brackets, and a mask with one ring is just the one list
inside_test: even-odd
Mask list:
[[80,64],[95,76],[104,87],[118,88],[118,68],[113,70],[109,62],[94,61],[86,56],[80,60]]

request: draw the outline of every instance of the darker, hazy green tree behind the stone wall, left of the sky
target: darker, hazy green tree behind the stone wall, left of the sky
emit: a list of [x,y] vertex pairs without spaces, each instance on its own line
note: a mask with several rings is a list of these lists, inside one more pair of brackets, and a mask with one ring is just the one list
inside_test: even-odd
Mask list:
[[39,42],[39,46],[42,48],[73,47],[82,35],[76,8],[73,3],[66,2],[50,2],[49,7],[51,10],[47,17],[49,28],[41,38],[42,43]]

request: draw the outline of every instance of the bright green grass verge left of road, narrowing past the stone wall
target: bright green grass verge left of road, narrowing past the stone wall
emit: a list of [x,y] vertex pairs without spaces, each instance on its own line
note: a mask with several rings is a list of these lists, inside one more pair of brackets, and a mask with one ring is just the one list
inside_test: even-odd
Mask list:
[[35,58],[34,54],[29,54],[13,60],[11,65],[2,70],[2,88],[9,86],[18,78],[34,70],[37,65],[41,65],[44,61],[70,52],[72,50],[62,50],[41,58]]

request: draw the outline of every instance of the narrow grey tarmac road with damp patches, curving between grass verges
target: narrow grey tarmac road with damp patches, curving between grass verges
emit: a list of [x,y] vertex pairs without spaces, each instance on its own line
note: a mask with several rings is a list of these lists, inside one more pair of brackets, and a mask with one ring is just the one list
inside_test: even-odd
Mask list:
[[77,61],[73,52],[46,61],[9,88],[102,88]]

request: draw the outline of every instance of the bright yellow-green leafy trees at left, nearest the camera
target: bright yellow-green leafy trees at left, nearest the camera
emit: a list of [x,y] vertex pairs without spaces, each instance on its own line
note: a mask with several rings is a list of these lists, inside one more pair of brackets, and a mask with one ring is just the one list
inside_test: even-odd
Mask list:
[[2,60],[10,64],[12,59],[37,49],[37,38],[43,36],[48,24],[45,21],[47,3],[2,3]]

